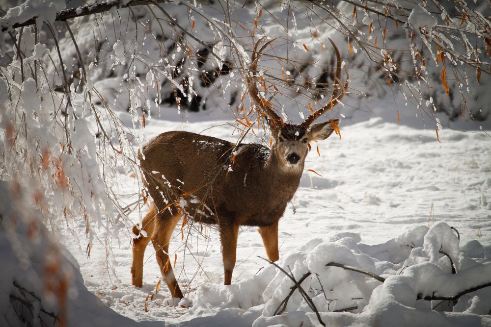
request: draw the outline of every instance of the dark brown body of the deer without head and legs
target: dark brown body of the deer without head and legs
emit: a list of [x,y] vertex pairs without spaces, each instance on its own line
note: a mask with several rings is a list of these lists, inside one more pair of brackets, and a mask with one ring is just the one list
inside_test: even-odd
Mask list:
[[278,170],[276,156],[263,145],[235,144],[218,138],[172,131],[142,149],[140,167],[159,210],[184,210],[206,224],[267,226],[284,212],[300,183]]

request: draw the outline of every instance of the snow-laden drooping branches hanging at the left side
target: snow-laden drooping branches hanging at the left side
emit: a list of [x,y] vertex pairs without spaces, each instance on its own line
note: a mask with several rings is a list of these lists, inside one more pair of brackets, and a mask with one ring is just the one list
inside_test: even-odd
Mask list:
[[97,90],[68,84],[58,47],[35,43],[30,29],[16,42],[22,54],[0,75],[0,178],[28,186],[53,229],[82,225],[91,244],[93,228],[124,216],[109,180],[136,172],[132,132],[89,100]]

